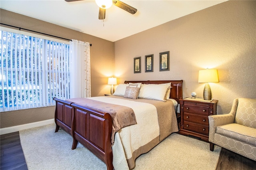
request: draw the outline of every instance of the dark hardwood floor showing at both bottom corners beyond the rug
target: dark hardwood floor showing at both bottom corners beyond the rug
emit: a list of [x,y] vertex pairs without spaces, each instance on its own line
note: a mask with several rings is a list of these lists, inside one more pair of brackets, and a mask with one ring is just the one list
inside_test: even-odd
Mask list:
[[[1,170],[27,170],[19,132],[1,135]],[[256,170],[256,161],[222,148],[216,170]]]

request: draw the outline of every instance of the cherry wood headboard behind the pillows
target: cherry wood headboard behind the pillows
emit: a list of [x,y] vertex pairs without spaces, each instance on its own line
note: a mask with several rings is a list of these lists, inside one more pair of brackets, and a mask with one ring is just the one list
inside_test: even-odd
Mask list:
[[175,99],[180,103],[179,99],[182,99],[182,83],[183,80],[147,80],[147,81],[124,81],[124,83],[142,83],[142,84],[163,84],[171,82],[170,99]]

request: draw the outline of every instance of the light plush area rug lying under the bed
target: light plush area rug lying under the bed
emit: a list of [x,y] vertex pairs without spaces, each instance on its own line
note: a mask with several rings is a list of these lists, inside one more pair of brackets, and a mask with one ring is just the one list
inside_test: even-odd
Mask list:
[[[29,170],[106,170],[106,165],[80,143],[71,149],[72,137],[55,125],[20,131]],[[136,159],[134,170],[215,170],[221,148],[194,138],[171,134],[150,152]]]

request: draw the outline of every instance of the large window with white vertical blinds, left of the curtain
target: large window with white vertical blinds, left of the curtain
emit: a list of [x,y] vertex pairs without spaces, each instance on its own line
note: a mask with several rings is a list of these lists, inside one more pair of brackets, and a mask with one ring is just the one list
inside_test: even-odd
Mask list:
[[[55,105],[70,98],[69,42],[0,30],[0,111]],[[40,37],[40,36],[39,36]]]

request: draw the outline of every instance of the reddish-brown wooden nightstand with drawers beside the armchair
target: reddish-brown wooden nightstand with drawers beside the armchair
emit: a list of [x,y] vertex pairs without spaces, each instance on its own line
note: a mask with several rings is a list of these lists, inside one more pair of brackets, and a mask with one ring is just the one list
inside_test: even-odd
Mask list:
[[209,142],[209,115],[217,114],[218,100],[180,99],[181,126],[179,134],[192,135]]

